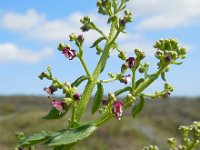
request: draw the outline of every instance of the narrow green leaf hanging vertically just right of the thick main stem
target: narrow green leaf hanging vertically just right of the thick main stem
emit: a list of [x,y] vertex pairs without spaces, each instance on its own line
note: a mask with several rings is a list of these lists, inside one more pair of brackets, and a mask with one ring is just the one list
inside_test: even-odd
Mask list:
[[99,109],[102,99],[103,99],[103,85],[101,83],[98,83],[97,91],[94,96],[94,102],[92,105],[92,114],[94,114]]

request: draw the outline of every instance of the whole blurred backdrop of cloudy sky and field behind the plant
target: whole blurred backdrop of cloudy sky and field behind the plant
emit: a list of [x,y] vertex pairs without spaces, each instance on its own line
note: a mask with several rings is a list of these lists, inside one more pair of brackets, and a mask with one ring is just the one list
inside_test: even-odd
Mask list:
[[[82,34],[79,20],[86,15],[108,32],[106,18],[96,13],[95,5],[95,0],[0,2],[1,150],[16,144],[15,131],[31,134],[43,129],[58,130],[66,125],[63,120],[52,123],[41,119],[51,108],[43,91],[51,82],[41,81],[38,75],[46,71],[47,66],[51,66],[54,76],[62,82],[72,82],[84,73],[78,59],[67,60],[57,50],[57,45],[69,43],[76,49],[68,36],[73,32]],[[130,0],[127,7],[133,12],[133,23],[127,25],[127,34],[120,35],[120,48],[128,56],[134,56],[135,48],[144,51],[152,73],[157,67],[153,48],[156,40],[176,38],[180,46],[187,48],[187,58],[181,66],[172,66],[166,74],[167,81],[175,89],[171,98],[147,100],[143,112],[136,119],[132,119],[127,111],[122,121],[113,119],[108,122],[81,142],[81,148],[77,149],[137,150],[149,144],[167,149],[167,137],[180,139],[179,125],[200,120],[199,6],[199,0]],[[95,32],[83,35],[85,61],[93,71],[99,56],[95,49],[89,47],[99,35]],[[120,72],[122,63],[117,53],[112,53],[101,78],[108,78],[110,71]],[[105,86],[105,91],[113,92],[122,86],[125,85],[112,83]],[[81,93],[83,89],[84,86],[81,86],[78,90]],[[162,89],[163,82],[159,79],[146,92]],[[56,95],[60,97],[62,93],[57,92]],[[92,116],[88,113],[85,117]]]

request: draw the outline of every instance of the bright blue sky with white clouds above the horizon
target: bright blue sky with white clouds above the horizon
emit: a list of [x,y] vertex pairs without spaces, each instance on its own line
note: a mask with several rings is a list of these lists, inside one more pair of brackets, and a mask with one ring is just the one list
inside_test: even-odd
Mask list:
[[[68,35],[80,34],[79,20],[85,15],[108,30],[106,19],[96,13],[95,0],[64,1],[1,1],[0,2],[0,95],[45,94],[43,87],[50,82],[38,79],[40,72],[49,65],[58,79],[72,82],[83,74],[78,59],[67,60],[56,47],[59,42],[70,43]],[[174,86],[173,96],[200,96],[200,1],[199,0],[130,0],[128,8],[134,21],[128,25],[128,34],[119,37],[119,45],[129,56],[140,48],[146,52],[146,61],[155,70],[153,44],[161,38],[176,38],[180,46],[188,49],[188,56],[181,66],[171,66],[166,75]],[[84,33],[84,54],[90,71],[98,56],[89,46],[98,38],[94,32]],[[73,44],[71,44],[73,46]],[[75,48],[74,48],[75,49]],[[107,73],[118,73],[123,63],[112,54],[101,78]],[[121,83],[106,85],[107,92],[123,87]],[[147,92],[162,90],[158,80]],[[83,90],[83,86],[79,91]]]

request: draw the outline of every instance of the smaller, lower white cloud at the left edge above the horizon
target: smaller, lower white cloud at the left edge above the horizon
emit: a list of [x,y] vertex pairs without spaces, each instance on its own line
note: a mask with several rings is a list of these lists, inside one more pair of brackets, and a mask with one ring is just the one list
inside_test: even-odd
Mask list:
[[29,49],[21,49],[12,43],[0,44],[0,63],[10,61],[35,63],[52,54],[53,51],[50,48],[35,52]]

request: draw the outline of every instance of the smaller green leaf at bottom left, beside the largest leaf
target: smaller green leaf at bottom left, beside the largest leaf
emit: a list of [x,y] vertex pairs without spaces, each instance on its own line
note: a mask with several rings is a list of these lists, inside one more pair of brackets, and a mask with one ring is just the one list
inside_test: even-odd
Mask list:
[[35,145],[35,144],[44,142],[49,137],[50,137],[50,135],[47,133],[36,133],[36,134],[31,135],[28,138],[25,138],[25,139],[19,141],[19,145],[23,146],[23,147],[28,147],[31,145]]

